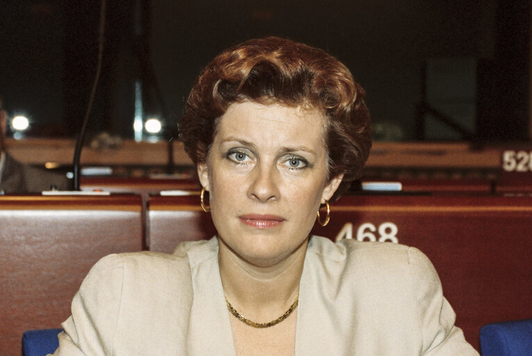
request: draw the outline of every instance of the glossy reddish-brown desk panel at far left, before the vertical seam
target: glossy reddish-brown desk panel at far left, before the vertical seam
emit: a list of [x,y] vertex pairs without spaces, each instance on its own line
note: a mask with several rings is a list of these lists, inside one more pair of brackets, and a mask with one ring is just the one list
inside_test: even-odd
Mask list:
[[138,195],[0,196],[0,355],[21,354],[22,333],[61,327],[90,267],[143,249]]

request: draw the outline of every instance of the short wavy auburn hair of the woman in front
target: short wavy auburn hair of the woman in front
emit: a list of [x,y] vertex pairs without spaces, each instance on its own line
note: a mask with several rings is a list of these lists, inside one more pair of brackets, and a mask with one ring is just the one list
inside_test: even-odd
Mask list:
[[193,163],[205,163],[218,119],[234,103],[310,106],[327,120],[330,178],[344,173],[333,200],[362,175],[371,147],[364,89],[321,49],[268,37],[225,49],[202,70],[179,120],[179,139]]

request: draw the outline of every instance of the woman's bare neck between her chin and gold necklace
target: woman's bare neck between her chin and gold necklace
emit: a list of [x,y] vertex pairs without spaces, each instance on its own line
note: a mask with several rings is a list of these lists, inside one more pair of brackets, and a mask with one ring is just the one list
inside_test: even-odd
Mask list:
[[277,318],[298,296],[307,242],[282,261],[257,266],[241,259],[220,240],[218,264],[227,300],[257,323]]

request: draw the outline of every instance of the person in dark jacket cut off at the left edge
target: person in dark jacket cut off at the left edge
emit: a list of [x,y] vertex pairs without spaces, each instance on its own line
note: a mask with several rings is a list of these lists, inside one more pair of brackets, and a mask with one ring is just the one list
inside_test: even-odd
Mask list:
[[17,161],[6,150],[7,114],[0,97],[0,193],[40,193],[55,188],[67,191],[72,187],[65,175],[47,172]]

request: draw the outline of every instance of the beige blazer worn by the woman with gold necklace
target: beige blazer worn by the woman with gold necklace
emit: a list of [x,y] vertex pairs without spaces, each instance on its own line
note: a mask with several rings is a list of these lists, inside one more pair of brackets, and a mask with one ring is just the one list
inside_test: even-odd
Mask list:
[[[217,252],[214,237],[173,255],[105,257],[74,297],[54,355],[236,356]],[[433,265],[403,245],[312,236],[297,318],[297,356],[478,355]]]

